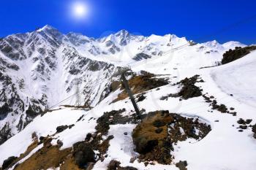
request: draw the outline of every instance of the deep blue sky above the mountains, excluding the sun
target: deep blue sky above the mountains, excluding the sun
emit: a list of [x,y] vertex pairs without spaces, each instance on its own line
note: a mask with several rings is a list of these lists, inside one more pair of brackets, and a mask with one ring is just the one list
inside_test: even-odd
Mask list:
[[176,34],[196,42],[256,44],[255,0],[78,0],[89,6],[83,20],[70,17],[74,1],[0,0],[0,36],[49,24],[63,33],[94,37],[124,28],[145,36]]

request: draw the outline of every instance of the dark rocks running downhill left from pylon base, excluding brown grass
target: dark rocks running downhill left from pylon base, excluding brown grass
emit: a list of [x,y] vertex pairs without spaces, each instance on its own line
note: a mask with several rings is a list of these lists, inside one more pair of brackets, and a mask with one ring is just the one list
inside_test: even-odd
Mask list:
[[[109,142],[113,136],[108,136],[110,125],[134,123],[134,117],[123,117],[122,112],[125,109],[113,110],[111,112],[104,112],[98,118],[96,132],[94,134],[87,134],[83,142],[73,144],[73,157],[75,163],[80,167],[93,167],[97,161],[104,161],[108,157],[106,152],[110,146]],[[97,150],[98,152],[94,152]]]

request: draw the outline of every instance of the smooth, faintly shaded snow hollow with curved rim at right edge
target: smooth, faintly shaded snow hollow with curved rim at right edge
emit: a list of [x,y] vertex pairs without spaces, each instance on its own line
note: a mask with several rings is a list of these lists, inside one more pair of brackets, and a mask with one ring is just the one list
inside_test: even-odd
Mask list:
[[256,52],[245,58],[220,66],[211,75],[226,93],[235,94],[234,98],[251,107],[256,107]]

